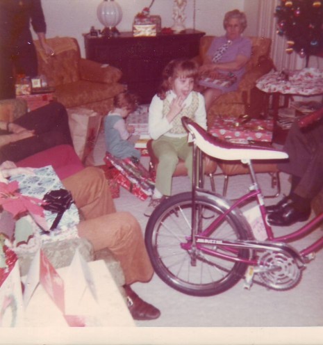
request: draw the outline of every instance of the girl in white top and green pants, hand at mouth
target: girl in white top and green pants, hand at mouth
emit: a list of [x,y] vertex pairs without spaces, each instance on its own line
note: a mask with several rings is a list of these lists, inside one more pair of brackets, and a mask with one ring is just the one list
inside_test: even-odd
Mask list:
[[185,161],[192,178],[192,146],[181,118],[187,116],[206,129],[204,97],[194,91],[198,67],[190,60],[171,61],[163,71],[163,81],[149,106],[149,134],[152,148],[158,158],[156,188],[147,210],[150,216],[154,208],[171,195],[172,175],[179,159]]

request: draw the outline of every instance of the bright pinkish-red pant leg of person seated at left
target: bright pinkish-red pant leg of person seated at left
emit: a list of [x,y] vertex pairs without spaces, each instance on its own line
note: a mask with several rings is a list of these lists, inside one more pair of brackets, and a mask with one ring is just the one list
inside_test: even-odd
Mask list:
[[19,167],[41,168],[53,166],[60,179],[65,179],[83,170],[84,166],[71,145],[58,145],[33,154],[16,163]]

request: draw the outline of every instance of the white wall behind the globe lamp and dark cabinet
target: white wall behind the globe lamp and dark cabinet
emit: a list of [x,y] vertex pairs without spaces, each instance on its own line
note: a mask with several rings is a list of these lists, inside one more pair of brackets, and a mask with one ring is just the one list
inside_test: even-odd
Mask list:
[[[117,26],[119,31],[131,31],[133,17],[151,3],[151,0],[116,1],[123,11],[122,22]],[[194,0],[187,1],[185,26],[193,28]],[[97,19],[99,3],[101,0],[42,0],[47,21],[47,37],[72,36],[78,40],[81,54],[85,56],[82,33],[87,33],[92,25],[97,29],[102,29]],[[195,0],[195,3],[195,29],[205,31],[210,35],[220,35],[224,32],[222,27],[224,13],[234,8],[244,10],[245,0]],[[151,7],[151,14],[160,15],[163,27],[172,26],[174,23],[172,8],[173,0],[155,0]]]

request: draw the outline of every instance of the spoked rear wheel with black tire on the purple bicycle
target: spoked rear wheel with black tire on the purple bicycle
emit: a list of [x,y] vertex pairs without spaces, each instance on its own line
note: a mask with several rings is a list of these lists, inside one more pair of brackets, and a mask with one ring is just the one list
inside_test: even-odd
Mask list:
[[[208,193],[199,193],[196,204],[204,209],[204,215],[200,215],[198,220],[203,228],[213,221],[215,215],[223,214],[229,208],[229,202]],[[190,192],[174,195],[158,205],[145,231],[147,252],[157,275],[170,287],[191,296],[217,295],[233,287],[243,277],[247,264],[229,262],[199,252],[197,266],[191,266],[190,252],[181,247],[181,243],[190,241],[191,212]],[[250,239],[250,232],[241,216],[241,213],[236,212],[226,215],[222,224],[210,234],[210,238]],[[203,246],[209,248],[210,244]],[[243,258],[249,255],[246,248],[238,249],[236,254]]]

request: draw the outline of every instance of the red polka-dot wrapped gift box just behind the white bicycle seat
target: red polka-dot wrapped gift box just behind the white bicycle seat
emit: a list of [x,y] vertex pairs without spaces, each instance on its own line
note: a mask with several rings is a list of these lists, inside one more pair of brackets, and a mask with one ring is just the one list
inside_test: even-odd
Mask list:
[[273,120],[250,119],[243,122],[239,118],[215,118],[208,131],[226,140],[272,141]]

